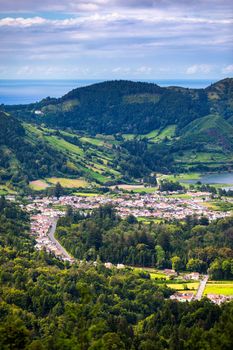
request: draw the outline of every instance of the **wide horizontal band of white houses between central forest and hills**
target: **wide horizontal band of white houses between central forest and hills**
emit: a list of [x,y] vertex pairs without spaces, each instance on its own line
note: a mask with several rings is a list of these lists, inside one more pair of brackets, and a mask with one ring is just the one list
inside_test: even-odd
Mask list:
[[[172,193],[171,193],[172,194]],[[121,194],[118,196],[100,195],[95,197],[63,196],[59,199],[44,198],[35,200],[40,205],[67,206],[76,210],[92,210],[100,205],[113,205],[121,217],[134,215],[135,217],[147,217],[157,219],[182,220],[186,216],[206,216],[215,220],[231,215],[231,212],[214,211],[205,205],[210,200],[209,193],[190,192],[184,197],[165,195],[160,192],[152,194]],[[35,204],[34,202],[34,204]]]

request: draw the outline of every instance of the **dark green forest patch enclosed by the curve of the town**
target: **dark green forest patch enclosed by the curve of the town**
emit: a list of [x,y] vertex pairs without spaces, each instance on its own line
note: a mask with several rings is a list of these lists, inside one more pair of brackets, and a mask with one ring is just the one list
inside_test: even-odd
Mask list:
[[154,266],[233,279],[233,219],[209,223],[203,217],[150,225],[116,215],[111,206],[86,218],[69,208],[58,221],[57,237],[78,259]]

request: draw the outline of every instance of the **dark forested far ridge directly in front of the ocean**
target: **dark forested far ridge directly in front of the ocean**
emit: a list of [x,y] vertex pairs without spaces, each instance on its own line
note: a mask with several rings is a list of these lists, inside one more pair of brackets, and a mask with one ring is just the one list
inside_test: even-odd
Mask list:
[[[36,104],[6,106],[24,120],[51,127],[70,127],[97,133],[145,134],[217,113],[232,117],[232,79],[224,79],[207,89],[162,88],[156,84],[109,81],[74,89],[65,96],[46,98]],[[41,113],[35,115],[35,111]]]

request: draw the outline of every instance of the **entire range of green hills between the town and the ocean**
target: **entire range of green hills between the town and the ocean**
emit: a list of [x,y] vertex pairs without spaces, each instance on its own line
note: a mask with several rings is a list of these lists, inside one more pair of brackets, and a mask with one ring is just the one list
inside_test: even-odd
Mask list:
[[3,106],[1,182],[102,186],[152,172],[232,169],[232,81],[197,90],[113,81]]

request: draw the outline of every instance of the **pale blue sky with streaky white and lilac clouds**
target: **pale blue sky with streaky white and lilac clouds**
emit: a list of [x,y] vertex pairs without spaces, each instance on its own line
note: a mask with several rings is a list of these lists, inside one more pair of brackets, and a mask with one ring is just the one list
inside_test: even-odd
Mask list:
[[233,76],[232,0],[0,0],[0,79]]

